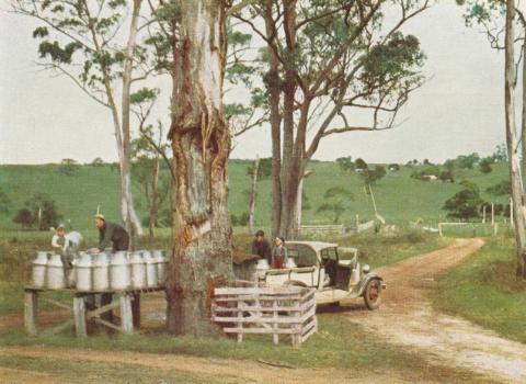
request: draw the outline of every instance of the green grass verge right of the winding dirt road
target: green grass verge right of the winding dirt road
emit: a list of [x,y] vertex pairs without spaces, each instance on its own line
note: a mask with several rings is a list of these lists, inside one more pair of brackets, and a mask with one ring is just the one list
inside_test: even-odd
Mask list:
[[515,279],[513,238],[489,239],[476,255],[439,279],[432,298],[443,312],[526,342],[526,282]]

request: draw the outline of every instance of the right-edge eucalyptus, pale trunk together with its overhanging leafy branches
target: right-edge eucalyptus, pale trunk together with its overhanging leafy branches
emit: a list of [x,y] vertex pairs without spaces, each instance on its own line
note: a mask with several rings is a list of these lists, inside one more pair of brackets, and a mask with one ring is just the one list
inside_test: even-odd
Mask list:
[[[467,7],[468,25],[482,26],[491,46],[504,52],[504,110],[506,122],[506,146],[510,168],[512,210],[515,229],[517,268],[516,275],[526,279],[526,201],[524,178],[526,177],[526,11],[515,0],[457,0]],[[516,46],[519,54],[516,55]],[[517,129],[516,88],[517,68],[522,64],[522,117]],[[518,154],[522,147],[521,155]]]

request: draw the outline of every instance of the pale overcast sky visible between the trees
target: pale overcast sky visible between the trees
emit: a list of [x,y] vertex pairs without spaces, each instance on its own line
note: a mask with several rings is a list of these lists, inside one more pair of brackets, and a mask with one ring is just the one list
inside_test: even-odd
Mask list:
[[[0,9],[7,10],[5,0]],[[346,133],[323,139],[316,159],[362,157],[368,162],[405,162],[477,151],[490,155],[504,143],[503,53],[480,30],[468,29],[455,1],[441,1],[404,27],[427,56],[425,84],[403,108],[397,128]],[[0,11],[0,163],[47,163],[64,158],[116,161],[108,110],[64,77],[36,65],[31,19]],[[230,98],[244,98],[242,91]],[[156,113],[168,117],[168,106]],[[350,116],[352,118],[352,116]],[[235,139],[232,158],[271,155],[270,129]]]

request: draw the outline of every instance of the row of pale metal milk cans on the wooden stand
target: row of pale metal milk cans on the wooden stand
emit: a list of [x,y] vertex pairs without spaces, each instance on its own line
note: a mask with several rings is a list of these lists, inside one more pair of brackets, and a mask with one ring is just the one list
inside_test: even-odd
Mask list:
[[152,289],[164,286],[167,264],[162,250],[80,252],[68,269],[60,255],[39,251],[33,262],[33,285],[49,290],[69,286],[81,292]]

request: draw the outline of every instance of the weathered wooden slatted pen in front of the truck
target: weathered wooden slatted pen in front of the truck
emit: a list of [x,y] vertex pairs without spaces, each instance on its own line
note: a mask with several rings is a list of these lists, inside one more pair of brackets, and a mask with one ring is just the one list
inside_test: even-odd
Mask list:
[[238,342],[244,334],[263,334],[277,345],[279,335],[289,335],[299,347],[318,330],[315,292],[300,286],[215,289],[213,320],[237,335]]

